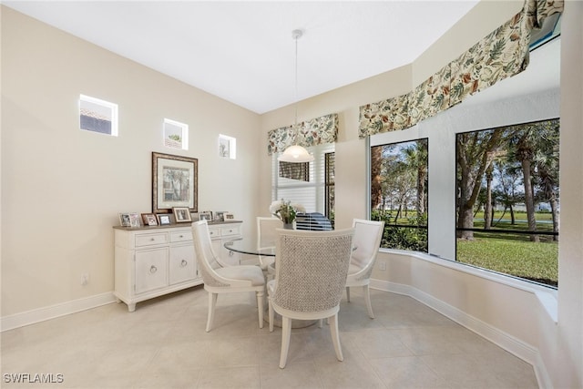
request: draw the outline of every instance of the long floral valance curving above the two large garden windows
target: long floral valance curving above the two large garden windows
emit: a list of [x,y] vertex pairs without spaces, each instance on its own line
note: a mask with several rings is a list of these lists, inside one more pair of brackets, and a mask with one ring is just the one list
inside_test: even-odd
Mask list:
[[522,10],[406,95],[360,107],[359,138],[413,127],[528,65],[530,33],[563,0],[526,0]]

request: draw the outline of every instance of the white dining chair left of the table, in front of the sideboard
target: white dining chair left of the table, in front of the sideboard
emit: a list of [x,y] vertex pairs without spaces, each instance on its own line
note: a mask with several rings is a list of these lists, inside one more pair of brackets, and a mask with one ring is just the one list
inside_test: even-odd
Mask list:
[[207,220],[192,223],[192,238],[204,289],[209,292],[209,313],[206,332],[209,333],[215,315],[217,297],[220,293],[255,292],[259,311],[259,327],[263,328],[263,298],[265,278],[258,266],[220,266],[218,256],[212,250]]

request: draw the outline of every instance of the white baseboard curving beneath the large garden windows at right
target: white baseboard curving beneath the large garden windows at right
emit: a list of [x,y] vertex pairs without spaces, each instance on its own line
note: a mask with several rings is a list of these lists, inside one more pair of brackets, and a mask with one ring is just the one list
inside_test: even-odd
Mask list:
[[469,315],[466,312],[460,311],[454,306],[451,306],[445,302],[437,300],[434,296],[419,291],[410,285],[372,279],[371,288],[384,292],[404,294],[414,298],[418,302],[423,302],[428,307],[434,309],[437,312],[440,312],[454,322],[463,325],[468,330],[477,333],[478,335],[486,338],[488,341],[502,347],[508,353],[512,353],[526,363],[531,364],[535,369],[539,387],[552,387],[547,369],[542,361],[542,358],[540,357],[540,353],[538,352],[538,349],[532,345],[524,343],[516,337],[500,331],[496,327],[486,322],[482,322],[481,320],[476,319],[476,317]]

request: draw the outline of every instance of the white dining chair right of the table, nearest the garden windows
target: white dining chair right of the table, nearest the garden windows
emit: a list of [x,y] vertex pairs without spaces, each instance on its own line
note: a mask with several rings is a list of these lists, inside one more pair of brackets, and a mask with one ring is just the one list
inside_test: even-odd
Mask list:
[[350,302],[350,288],[362,286],[364,301],[371,319],[374,319],[373,304],[371,304],[371,273],[373,272],[376,255],[383,239],[384,221],[353,220],[354,238],[353,253],[350,258],[348,277],[346,277],[346,298]]

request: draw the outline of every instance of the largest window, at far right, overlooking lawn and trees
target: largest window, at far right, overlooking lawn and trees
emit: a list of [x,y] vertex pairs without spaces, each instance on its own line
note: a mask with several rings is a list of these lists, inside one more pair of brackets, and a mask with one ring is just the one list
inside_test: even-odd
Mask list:
[[558,284],[559,121],[456,135],[456,261]]

